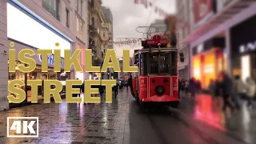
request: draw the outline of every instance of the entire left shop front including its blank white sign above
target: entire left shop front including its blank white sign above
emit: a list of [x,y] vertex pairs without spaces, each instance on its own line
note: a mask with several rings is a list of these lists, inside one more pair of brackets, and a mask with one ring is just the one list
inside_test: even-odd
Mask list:
[[[19,19],[22,19],[22,22],[18,22]],[[64,84],[62,94],[65,93],[65,81],[70,78],[70,74],[63,73],[63,58],[64,50],[71,49],[73,41],[70,38],[16,1],[7,3],[7,37],[9,42],[14,42],[12,48],[16,50],[16,71],[9,73],[9,82],[13,79],[20,79],[25,83],[22,89],[26,92],[26,101],[23,103],[31,102],[31,86],[27,85],[27,80],[58,79]],[[42,56],[37,54],[38,48],[61,50],[61,72],[54,72],[54,54],[50,54],[48,55],[48,72],[42,73]],[[23,49],[34,50],[35,53],[32,58],[37,66],[30,73],[22,73],[18,70],[18,65],[22,65],[22,62],[18,61],[18,53]],[[42,86],[38,86],[38,99],[42,98]],[[10,107],[16,105],[20,104],[10,103]]]

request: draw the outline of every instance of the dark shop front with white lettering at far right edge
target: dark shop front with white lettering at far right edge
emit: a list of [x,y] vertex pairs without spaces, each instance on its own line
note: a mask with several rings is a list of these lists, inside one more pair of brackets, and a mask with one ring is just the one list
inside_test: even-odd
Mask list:
[[256,82],[256,14],[230,28],[231,67],[233,76]]

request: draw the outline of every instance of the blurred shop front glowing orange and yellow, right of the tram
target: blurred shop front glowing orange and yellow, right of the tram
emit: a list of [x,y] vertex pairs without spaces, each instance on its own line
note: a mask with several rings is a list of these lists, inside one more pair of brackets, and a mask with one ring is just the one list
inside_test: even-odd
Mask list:
[[224,38],[213,38],[193,48],[192,73],[201,82],[202,89],[208,89],[210,80],[215,80],[220,72],[226,70],[224,47]]

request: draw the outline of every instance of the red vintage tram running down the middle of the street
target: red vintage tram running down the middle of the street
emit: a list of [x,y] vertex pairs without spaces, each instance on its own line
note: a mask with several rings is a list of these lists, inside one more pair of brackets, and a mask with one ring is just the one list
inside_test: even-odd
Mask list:
[[132,95],[138,103],[158,103],[178,107],[178,52],[167,39],[154,35],[142,41],[142,50],[134,50]]

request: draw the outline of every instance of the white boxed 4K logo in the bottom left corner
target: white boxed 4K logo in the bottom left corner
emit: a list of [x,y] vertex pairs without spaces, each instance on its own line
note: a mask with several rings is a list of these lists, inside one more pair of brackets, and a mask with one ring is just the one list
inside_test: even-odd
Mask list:
[[7,138],[38,137],[38,117],[7,117]]

